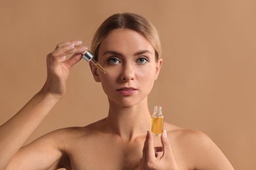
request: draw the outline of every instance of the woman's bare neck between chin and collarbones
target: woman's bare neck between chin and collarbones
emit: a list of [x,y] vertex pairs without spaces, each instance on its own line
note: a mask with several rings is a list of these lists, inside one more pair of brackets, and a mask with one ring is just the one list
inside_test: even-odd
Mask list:
[[110,102],[106,126],[107,129],[128,141],[145,135],[146,130],[150,128],[147,100],[131,107],[122,107]]

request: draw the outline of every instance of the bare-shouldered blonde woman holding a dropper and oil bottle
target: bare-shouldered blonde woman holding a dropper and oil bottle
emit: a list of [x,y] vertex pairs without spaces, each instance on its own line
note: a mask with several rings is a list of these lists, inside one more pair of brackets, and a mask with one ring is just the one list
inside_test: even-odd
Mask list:
[[[47,80],[0,128],[0,169],[233,169],[200,131],[164,123],[161,140],[150,126],[147,96],[160,73],[160,41],[152,24],[136,14],[114,14],[100,25],[90,63],[108,96],[108,117],[85,127],[53,131],[21,147],[66,93],[70,69],[87,48],[81,41],[58,44],[47,56]],[[66,59],[67,54],[74,54]]]

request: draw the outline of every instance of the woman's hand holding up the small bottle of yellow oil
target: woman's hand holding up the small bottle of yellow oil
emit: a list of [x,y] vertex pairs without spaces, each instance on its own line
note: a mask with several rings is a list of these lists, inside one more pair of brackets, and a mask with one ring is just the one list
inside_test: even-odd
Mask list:
[[[161,135],[162,147],[154,148],[153,135],[151,131],[147,131],[146,140],[143,147],[143,155],[140,160],[141,170],[163,170],[163,169],[179,169],[171,150],[171,143],[167,139],[166,131],[163,131]],[[158,156],[158,152],[163,152],[163,155]]]

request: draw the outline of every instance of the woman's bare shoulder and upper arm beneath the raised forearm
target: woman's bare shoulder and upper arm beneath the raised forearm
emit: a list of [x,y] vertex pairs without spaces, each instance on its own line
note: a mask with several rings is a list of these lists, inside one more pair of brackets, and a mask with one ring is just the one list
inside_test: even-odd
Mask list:
[[[23,146],[7,169],[56,169],[70,167],[66,146],[83,135],[84,127],[68,127],[47,133]],[[68,168],[69,169],[69,168]]]

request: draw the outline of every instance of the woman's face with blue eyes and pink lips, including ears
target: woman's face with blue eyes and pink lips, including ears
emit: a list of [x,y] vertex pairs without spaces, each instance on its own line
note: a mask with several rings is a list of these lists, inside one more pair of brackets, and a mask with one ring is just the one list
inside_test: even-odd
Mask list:
[[156,62],[153,46],[130,29],[114,29],[100,44],[98,63],[106,73],[91,64],[96,82],[110,103],[129,107],[146,100],[158,77],[161,62]]

